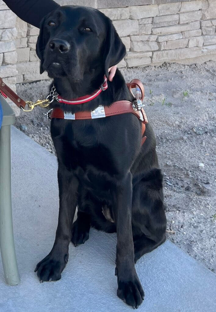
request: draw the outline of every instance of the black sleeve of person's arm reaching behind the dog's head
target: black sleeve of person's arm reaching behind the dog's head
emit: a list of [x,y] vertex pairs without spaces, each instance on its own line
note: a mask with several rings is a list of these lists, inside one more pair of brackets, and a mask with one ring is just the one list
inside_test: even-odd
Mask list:
[[42,18],[59,7],[53,0],[3,0],[23,21],[39,28]]

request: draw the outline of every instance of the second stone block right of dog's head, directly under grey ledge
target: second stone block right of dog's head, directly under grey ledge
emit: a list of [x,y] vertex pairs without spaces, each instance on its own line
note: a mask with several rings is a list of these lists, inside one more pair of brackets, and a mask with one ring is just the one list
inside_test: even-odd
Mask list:
[[138,5],[130,7],[130,18],[141,19],[158,15],[158,6],[154,5]]

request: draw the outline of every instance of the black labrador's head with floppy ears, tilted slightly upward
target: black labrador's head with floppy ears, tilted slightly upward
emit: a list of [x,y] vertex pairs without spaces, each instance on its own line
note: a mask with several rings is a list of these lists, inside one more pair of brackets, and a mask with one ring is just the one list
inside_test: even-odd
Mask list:
[[64,6],[43,18],[36,52],[40,72],[52,78],[70,76],[82,80],[86,72],[118,64],[126,53],[111,20],[100,11]]

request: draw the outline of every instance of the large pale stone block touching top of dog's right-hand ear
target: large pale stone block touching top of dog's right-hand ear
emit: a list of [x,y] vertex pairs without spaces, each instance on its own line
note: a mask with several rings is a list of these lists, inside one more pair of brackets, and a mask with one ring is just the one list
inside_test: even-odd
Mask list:
[[129,35],[138,35],[138,21],[136,20],[121,20],[114,21],[113,25],[120,37]]

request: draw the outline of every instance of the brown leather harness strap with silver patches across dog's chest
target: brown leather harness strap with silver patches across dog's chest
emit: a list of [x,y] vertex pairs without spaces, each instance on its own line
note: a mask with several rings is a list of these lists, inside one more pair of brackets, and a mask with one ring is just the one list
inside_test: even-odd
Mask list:
[[138,119],[142,121],[142,142],[143,144],[146,140],[146,136],[143,137],[145,132],[145,125],[148,123],[148,119],[143,109],[136,111],[133,109],[132,103],[130,101],[122,100],[114,102],[111,106],[98,106],[96,109],[97,112],[92,111],[83,111],[72,114],[70,112],[65,112],[60,108],[54,108],[50,118],[59,118],[59,119],[72,119],[72,120],[83,120],[83,119],[95,119],[103,118],[114,115],[121,115],[125,113],[132,113],[137,116]]

